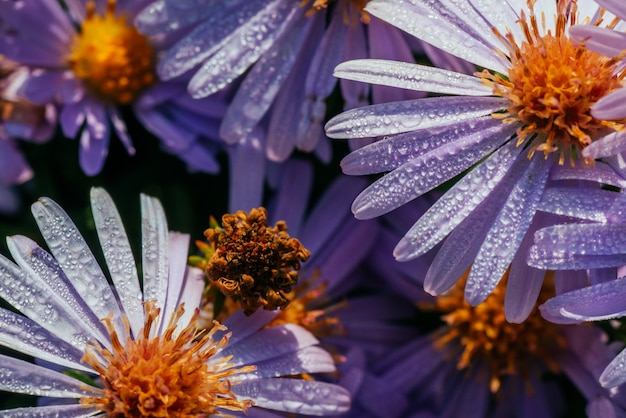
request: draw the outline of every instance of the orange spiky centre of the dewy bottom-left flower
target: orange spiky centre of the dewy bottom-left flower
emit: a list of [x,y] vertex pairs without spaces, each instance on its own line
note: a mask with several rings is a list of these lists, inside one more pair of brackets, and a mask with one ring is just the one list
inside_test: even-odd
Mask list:
[[106,318],[112,350],[92,343],[83,357],[100,374],[104,395],[83,398],[81,403],[116,418],[196,418],[221,416],[222,410],[246,412],[252,401],[238,400],[231,386],[236,384],[237,375],[254,371],[255,367],[234,368],[228,363],[229,358],[209,362],[228,344],[230,334],[215,341],[214,334],[225,329],[217,322],[203,334],[195,325],[196,310],[189,324],[175,336],[183,313],[181,305],[165,332],[149,338],[159,310],[153,302],[147,303],[144,329],[132,339],[127,323],[128,336],[124,341],[117,335],[111,319]]

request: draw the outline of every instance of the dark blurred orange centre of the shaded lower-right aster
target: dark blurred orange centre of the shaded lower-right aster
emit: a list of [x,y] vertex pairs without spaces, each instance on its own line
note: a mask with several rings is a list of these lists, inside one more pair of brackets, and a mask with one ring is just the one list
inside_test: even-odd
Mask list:
[[[559,367],[555,359],[566,346],[559,326],[544,320],[537,309],[521,324],[507,322],[504,293],[508,272],[487,300],[471,306],[465,301],[463,289],[468,274],[469,270],[457,285],[438,296],[434,303],[422,306],[445,314],[443,320],[447,326],[436,333],[436,346],[458,359],[459,370],[487,364],[490,368],[489,387],[494,393],[507,375],[529,379],[540,377],[537,374],[546,369],[557,373]],[[547,279],[551,281],[550,277]],[[549,297],[544,286],[539,303]]]

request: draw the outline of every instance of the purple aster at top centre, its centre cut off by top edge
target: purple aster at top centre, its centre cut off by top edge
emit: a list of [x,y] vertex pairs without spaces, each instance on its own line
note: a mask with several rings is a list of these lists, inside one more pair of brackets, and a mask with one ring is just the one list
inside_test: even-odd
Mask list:
[[[333,68],[349,58],[413,59],[402,33],[371,18],[363,11],[366,3],[158,0],[138,15],[137,25],[149,35],[183,32],[160,58],[157,72],[165,80],[193,72],[193,97],[241,79],[221,124],[227,143],[260,138],[257,158],[278,162],[295,149],[328,159],[329,144],[320,139],[325,100],[336,85]],[[368,97],[368,89],[354,83],[342,82],[341,89],[348,106]],[[385,100],[407,93],[376,87],[372,94]],[[267,135],[260,137],[260,126]]]

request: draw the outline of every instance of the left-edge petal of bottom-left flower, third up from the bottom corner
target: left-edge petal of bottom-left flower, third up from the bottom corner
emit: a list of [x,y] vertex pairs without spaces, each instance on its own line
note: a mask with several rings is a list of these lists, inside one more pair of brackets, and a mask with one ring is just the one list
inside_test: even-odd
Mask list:
[[36,322],[1,308],[0,344],[61,366],[93,372],[81,363],[83,350],[66,343]]

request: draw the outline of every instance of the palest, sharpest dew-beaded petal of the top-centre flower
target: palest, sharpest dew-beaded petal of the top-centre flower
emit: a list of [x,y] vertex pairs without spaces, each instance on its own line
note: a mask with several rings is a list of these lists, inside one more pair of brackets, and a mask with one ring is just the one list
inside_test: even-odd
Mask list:
[[[263,10],[209,57],[189,81],[194,98],[209,96],[232,83],[291,27],[304,22],[304,8],[292,1],[266,2]],[[263,30],[259,30],[263,28]]]

